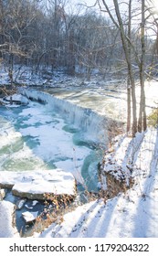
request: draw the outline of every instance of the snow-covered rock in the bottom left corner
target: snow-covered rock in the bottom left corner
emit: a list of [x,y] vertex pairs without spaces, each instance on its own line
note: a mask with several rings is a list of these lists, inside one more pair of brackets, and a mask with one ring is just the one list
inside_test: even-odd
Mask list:
[[19,237],[15,227],[15,205],[0,201],[0,238]]

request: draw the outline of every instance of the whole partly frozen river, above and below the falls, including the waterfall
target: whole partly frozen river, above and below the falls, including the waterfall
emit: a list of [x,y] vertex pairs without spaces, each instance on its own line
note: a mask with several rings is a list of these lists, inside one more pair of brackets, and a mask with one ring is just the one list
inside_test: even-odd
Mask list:
[[[147,87],[148,104],[154,87]],[[22,91],[33,100],[28,105],[0,106],[0,170],[59,167],[97,189],[100,144],[108,144],[111,120],[125,121],[125,91],[112,85]]]

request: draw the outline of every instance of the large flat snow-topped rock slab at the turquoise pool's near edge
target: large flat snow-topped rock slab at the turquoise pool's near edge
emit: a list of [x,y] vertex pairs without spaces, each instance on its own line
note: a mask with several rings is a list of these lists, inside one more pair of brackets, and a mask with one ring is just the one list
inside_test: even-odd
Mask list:
[[47,194],[75,197],[76,182],[71,173],[61,169],[1,172],[1,187],[12,187],[12,193],[18,197],[44,200]]

